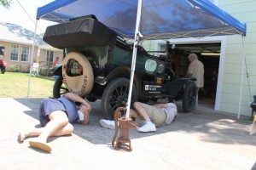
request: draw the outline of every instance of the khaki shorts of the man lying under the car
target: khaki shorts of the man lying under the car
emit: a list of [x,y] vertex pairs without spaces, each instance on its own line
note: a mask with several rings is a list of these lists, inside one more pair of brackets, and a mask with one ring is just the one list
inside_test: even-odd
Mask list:
[[[149,119],[156,127],[161,127],[166,121],[166,112],[153,105],[142,104],[145,111],[148,113]],[[141,116],[137,116],[136,121],[140,126],[145,120]]]

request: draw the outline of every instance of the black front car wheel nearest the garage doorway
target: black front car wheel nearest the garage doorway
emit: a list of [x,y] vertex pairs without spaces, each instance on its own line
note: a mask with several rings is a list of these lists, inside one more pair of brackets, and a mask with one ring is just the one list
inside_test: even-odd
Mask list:
[[195,82],[189,82],[183,92],[183,111],[191,112],[195,106],[196,87]]

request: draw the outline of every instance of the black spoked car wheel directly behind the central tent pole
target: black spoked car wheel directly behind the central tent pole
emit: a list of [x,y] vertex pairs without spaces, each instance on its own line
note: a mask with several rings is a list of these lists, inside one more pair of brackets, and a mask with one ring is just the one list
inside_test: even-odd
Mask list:
[[[125,107],[129,94],[130,80],[116,78],[105,88],[102,95],[102,114],[105,119],[113,120],[114,111],[119,107]],[[137,88],[133,85],[131,106],[137,101]]]

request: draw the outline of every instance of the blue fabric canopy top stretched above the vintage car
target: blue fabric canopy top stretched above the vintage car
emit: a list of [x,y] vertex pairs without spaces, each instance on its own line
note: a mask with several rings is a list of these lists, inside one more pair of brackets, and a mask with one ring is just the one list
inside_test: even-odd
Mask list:
[[[94,14],[124,37],[134,37],[137,0],[55,0],[38,8],[37,19],[57,23]],[[143,39],[246,35],[246,24],[208,0],[143,0]]]

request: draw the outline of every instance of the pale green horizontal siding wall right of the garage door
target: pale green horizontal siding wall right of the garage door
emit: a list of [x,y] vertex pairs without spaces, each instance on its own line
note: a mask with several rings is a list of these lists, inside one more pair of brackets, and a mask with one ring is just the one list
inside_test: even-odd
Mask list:
[[[256,94],[256,1],[219,0],[218,6],[247,24],[247,36],[244,38],[245,60],[242,58],[241,36],[227,37],[219,110],[250,116],[252,109],[249,103]],[[245,65],[242,65],[244,62]],[[244,74],[241,74],[242,71]]]

